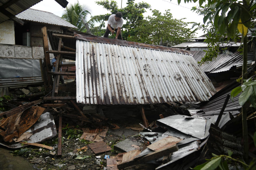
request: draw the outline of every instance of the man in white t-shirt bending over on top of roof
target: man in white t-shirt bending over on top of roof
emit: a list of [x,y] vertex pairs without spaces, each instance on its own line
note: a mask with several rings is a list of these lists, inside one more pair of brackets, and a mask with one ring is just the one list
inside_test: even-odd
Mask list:
[[121,33],[122,26],[123,26],[123,18],[122,18],[121,12],[117,12],[116,14],[110,15],[109,20],[107,21],[107,29],[104,37],[108,38],[110,32],[112,34],[116,32],[117,35],[115,36],[115,39],[122,40],[123,39],[122,33]]

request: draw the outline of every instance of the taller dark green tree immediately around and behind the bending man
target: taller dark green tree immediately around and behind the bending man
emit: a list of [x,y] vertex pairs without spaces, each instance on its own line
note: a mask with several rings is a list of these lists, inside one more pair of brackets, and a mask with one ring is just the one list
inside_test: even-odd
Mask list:
[[[134,0],[128,0],[128,2],[126,3],[127,6],[122,9],[117,7],[117,2],[115,1],[109,2],[108,0],[106,0],[106,1],[97,1],[96,3],[110,11],[110,14],[96,16],[97,18],[100,18],[102,21],[101,25],[99,26],[101,29],[106,29],[105,21],[109,19],[109,16],[111,14],[122,12],[123,19],[126,20],[126,24],[123,24],[123,27],[122,27],[123,40],[127,40],[127,37],[129,35],[133,36],[136,34],[136,31],[134,30],[134,28],[137,27],[137,25],[141,20],[143,20],[144,18],[143,13],[146,12],[146,9],[150,8],[150,5],[148,3],[145,3],[145,2],[134,3]],[[113,36],[110,36],[110,38],[113,38]]]

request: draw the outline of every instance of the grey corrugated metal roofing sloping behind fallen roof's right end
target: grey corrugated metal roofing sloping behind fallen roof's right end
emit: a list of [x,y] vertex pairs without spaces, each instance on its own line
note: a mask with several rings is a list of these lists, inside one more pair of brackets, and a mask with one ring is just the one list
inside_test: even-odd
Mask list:
[[[204,51],[190,51],[193,55],[193,58],[196,61],[201,61],[201,58],[205,56]],[[251,59],[251,58],[249,58]],[[247,61],[248,65],[251,65],[251,60]],[[240,55],[240,52],[235,52],[231,55],[219,54],[216,60],[213,60],[209,63],[202,64],[200,67],[204,72],[207,73],[219,73],[222,71],[228,71],[233,66],[241,66],[243,63],[243,57]]]

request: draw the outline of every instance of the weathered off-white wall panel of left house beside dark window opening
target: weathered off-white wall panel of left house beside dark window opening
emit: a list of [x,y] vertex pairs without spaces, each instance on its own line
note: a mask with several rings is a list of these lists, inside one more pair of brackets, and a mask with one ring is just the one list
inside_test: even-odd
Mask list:
[[14,21],[0,24],[0,44],[15,44]]

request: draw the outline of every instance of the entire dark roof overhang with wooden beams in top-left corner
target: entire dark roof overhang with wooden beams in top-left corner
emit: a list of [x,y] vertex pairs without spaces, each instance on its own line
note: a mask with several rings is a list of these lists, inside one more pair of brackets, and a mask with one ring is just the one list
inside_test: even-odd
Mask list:
[[[12,19],[23,25],[23,22],[19,20],[15,15],[21,13],[27,8],[41,2],[42,0],[0,0],[0,23],[5,22],[6,20]],[[68,4],[66,0],[55,0],[63,8]]]

